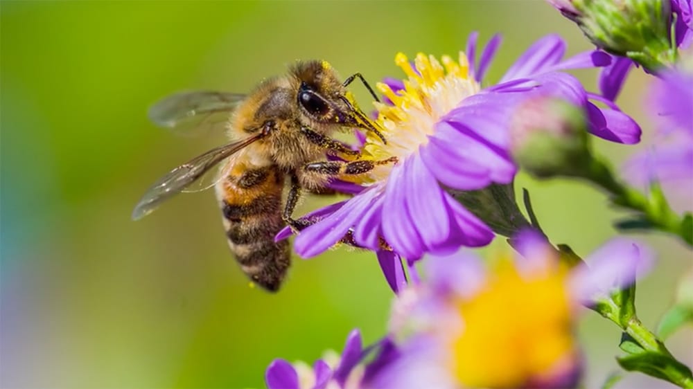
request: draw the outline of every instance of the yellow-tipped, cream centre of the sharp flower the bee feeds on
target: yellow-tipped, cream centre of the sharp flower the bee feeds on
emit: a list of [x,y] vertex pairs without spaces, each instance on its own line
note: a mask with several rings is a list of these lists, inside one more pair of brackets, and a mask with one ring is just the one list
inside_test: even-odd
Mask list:
[[[404,89],[393,91],[382,82],[376,85],[392,101],[392,105],[375,103],[376,123],[387,144],[369,134],[362,150],[364,159],[385,160],[396,156],[404,161],[419,146],[428,143],[428,136],[435,132],[440,118],[480,90],[479,83],[469,77],[469,62],[464,53],[459,53],[457,62],[447,55],[439,62],[432,55],[419,53],[414,66],[403,53],[398,53],[395,64],[407,75]],[[387,178],[390,170],[392,164],[380,165],[363,178],[366,182],[377,182]]]

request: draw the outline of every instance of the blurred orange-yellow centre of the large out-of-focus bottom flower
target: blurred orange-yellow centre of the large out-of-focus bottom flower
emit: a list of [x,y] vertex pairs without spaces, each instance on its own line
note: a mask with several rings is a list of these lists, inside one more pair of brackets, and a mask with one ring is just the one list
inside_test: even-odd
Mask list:
[[574,356],[565,269],[520,275],[502,262],[486,287],[459,302],[463,328],[451,344],[462,386],[520,388]]

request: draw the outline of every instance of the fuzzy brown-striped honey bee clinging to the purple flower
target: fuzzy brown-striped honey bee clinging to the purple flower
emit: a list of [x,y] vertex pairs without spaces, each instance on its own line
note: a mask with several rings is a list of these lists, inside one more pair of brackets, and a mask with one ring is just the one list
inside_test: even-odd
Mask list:
[[[290,247],[286,240],[274,242],[274,236],[285,224],[294,230],[308,225],[292,218],[301,190],[325,192],[333,178],[394,162],[360,160],[360,152],[331,138],[335,131],[362,129],[385,142],[347,91],[356,78],[377,101],[360,73],[340,82],[324,61],[298,62],[247,96],[200,91],[159,101],[150,109],[157,125],[177,127],[189,118],[222,113],[235,141],[171,170],[144,194],[132,218],[148,215],[225,161],[215,186],[231,252],[253,282],[277,291],[290,265]],[[326,161],[326,154],[342,160]],[[290,188],[282,201],[285,181]]]

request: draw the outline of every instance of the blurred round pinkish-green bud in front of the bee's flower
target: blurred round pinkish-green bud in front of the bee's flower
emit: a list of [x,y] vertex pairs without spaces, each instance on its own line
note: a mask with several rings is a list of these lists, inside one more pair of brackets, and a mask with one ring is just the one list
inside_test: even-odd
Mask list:
[[511,125],[511,150],[520,168],[536,177],[581,175],[591,160],[583,111],[555,98],[523,102]]

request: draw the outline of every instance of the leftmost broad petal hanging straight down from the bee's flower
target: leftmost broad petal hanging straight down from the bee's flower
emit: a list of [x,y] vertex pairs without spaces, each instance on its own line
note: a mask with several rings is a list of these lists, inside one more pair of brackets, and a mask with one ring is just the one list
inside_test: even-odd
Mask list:
[[[383,237],[394,250],[407,258],[415,260],[423,253],[423,242],[419,236],[419,226],[412,221],[407,212],[407,196],[405,192],[405,169],[409,160],[396,165],[390,172],[385,189],[385,201],[383,202]],[[431,188],[421,188],[430,190]],[[439,188],[437,190],[440,190]]]

